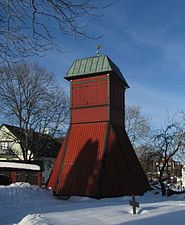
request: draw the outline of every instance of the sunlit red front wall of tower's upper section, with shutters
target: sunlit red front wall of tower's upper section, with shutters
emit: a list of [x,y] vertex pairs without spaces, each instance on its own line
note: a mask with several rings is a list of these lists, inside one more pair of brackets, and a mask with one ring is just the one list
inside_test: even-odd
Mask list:
[[108,121],[109,76],[105,74],[71,82],[71,123]]

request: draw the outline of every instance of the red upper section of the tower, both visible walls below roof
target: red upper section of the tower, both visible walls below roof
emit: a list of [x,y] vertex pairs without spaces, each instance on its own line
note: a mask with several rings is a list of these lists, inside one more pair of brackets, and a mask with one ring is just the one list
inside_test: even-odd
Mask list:
[[124,84],[114,74],[71,81],[71,123],[124,124]]

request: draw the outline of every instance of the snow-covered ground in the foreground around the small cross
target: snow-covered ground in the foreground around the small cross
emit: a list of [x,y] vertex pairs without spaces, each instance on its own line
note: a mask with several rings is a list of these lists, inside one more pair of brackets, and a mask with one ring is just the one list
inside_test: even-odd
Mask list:
[[0,186],[0,224],[16,225],[183,225],[185,195],[162,197],[148,192],[137,196],[136,215],[130,197],[95,200],[71,197],[58,200],[50,191],[16,183]]

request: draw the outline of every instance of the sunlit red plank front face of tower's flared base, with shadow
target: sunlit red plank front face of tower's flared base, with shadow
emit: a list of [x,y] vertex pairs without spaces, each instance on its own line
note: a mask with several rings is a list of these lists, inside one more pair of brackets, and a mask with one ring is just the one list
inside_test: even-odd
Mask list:
[[96,196],[106,123],[73,125],[57,193]]

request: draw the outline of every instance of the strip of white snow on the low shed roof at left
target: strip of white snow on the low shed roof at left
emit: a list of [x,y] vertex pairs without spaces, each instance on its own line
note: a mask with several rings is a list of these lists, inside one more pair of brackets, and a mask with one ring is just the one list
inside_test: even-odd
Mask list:
[[15,168],[25,170],[40,170],[40,166],[27,163],[0,162],[0,168]]

